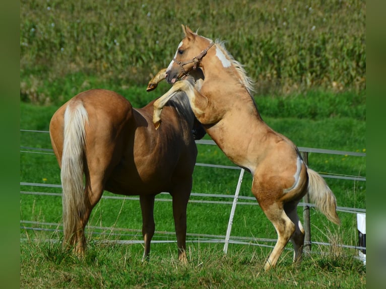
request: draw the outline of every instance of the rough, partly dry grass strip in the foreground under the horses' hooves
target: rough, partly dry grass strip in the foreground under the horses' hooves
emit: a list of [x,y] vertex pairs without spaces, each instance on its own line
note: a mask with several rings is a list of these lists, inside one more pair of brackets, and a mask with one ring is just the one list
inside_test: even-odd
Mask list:
[[[174,247],[153,245],[150,262],[142,263],[140,245],[91,244],[79,261],[59,244],[22,242],[21,287],[70,288],[365,288],[366,272],[357,259],[328,253],[305,258],[300,266],[289,261],[265,273],[262,250],[253,246],[230,250],[221,246],[189,245],[188,264],[181,265]],[[156,252],[155,252],[156,251]],[[264,251],[264,250],[263,250]],[[39,270],[35,268],[39,267]]]

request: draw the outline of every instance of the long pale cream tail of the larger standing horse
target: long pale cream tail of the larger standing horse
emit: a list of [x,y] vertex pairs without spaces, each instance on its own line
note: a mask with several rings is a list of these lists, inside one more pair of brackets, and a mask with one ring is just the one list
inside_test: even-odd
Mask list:
[[60,179],[63,188],[63,230],[65,243],[72,244],[81,216],[86,211],[84,193],[85,122],[88,114],[81,101],[70,102],[65,111]]

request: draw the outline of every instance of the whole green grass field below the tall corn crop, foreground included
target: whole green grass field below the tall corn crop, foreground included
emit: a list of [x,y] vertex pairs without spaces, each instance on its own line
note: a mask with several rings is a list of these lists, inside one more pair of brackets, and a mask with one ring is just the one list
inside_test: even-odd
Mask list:
[[[134,91],[136,101],[136,90]],[[132,95],[128,90],[126,95]],[[331,97],[331,96],[330,96]],[[296,102],[297,98],[293,98]],[[322,98],[320,98],[322,99]],[[327,106],[320,100],[320,106]],[[276,98],[265,99],[266,107],[275,107]],[[259,99],[256,99],[259,105]],[[291,100],[289,100],[290,102]],[[312,102],[308,103],[312,106]],[[307,107],[305,109],[308,109]],[[347,110],[346,106],[335,106],[338,114]],[[21,128],[47,130],[55,106],[35,106],[21,103]],[[309,109],[308,109],[309,110]],[[269,112],[270,110],[267,109]],[[264,116],[264,114],[263,114]],[[264,116],[274,129],[290,137],[298,146],[323,149],[345,150],[352,152],[365,151],[365,122],[349,116],[334,116],[316,119]],[[331,133],[339,131],[339,133]],[[206,138],[208,138],[206,136]],[[21,146],[50,148],[47,133],[21,132]],[[232,165],[216,146],[198,145],[198,163]],[[52,155],[21,153],[21,182],[59,184],[59,168]],[[309,165],[318,172],[366,176],[366,163],[363,157],[310,154]],[[196,167],[192,192],[211,194],[234,194],[238,179],[238,170]],[[338,205],[356,208],[366,207],[365,182],[327,179],[335,192]],[[251,177],[244,176],[240,195],[251,196]],[[58,188],[22,186],[23,191],[56,192]],[[105,193],[105,195],[112,195]],[[170,199],[167,195],[159,198]],[[214,198],[191,197],[193,200],[214,200]],[[216,199],[219,200],[219,199]],[[220,199],[221,200],[221,199]],[[229,201],[230,199],[223,198]],[[139,201],[122,201],[102,199],[90,218],[90,226],[113,229],[93,229],[89,227],[88,254],[85,262],[74,260],[63,254],[58,243],[45,243],[44,239],[61,240],[59,232],[40,232],[21,229],[21,238],[28,241],[21,243],[21,281],[23,286],[52,287],[229,287],[236,284],[240,287],[265,284],[265,287],[289,286],[297,283],[303,287],[364,287],[365,269],[362,263],[353,258],[356,250],[338,249],[313,245],[312,250],[321,252],[306,258],[300,268],[291,264],[291,251],[286,251],[275,273],[265,274],[262,271],[265,258],[271,248],[252,245],[230,245],[226,257],[222,255],[222,244],[208,244],[208,237],[203,235],[225,235],[230,213],[230,204],[207,204],[190,202],[188,205],[188,247],[189,264],[180,267],[176,263],[174,243],[153,244],[152,259],[149,264],[140,263],[142,245],[103,244],[100,241],[142,240],[141,212]],[[302,208],[298,213],[302,217]],[[357,244],[356,216],[339,212],[342,226],[339,228],[329,223],[323,215],[311,210],[312,240],[316,242]],[[59,196],[21,195],[21,220],[46,223],[60,223],[61,198]],[[301,218],[302,219],[302,218]],[[156,231],[153,240],[174,241],[174,224],[171,213],[171,202],[158,201],[155,204]],[[237,237],[255,237],[276,239],[272,224],[262,211],[254,205],[239,205],[236,208],[232,234]],[[23,224],[27,227],[34,225]],[[38,226],[56,229],[55,226]],[[131,230],[118,230],[130,228]],[[60,228],[58,228],[60,229]],[[97,235],[91,233],[99,233]],[[170,233],[167,233],[170,232]],[[123,234],[123,235],[119,235]],[[200,234],[198,239],[194,234]],[[198,240],[202,240],[196,243]],[[96,243],[95,243],[96,242]],[[253,243],[253,242],[252,242]],[[259,242],[272,246],[271,242]],[[288,245],[290,249],[292,245]],[[321,254],[321,255],[320,255]],[[354,264],[354,265],[353,265]],[[37,269],[38,268],[38,269]],[[53,269],[52,269],[53,268]],[[115,269],[113,269],[115,268]],[[304,270],[304,271],[303,271]],[[53,274],[47,274],[47,272]],[[87,272],[88,277],[85,278]],[[153,272],[153,274],[152,274]],[[155,273],[156,272],[156,273]],[[167,272],[167,273],[166,273]],[[312,275],[310,279],[309,276]],[[316,285],[317,284],[317,285]],[[225,285],[225,287],[227,287]]]

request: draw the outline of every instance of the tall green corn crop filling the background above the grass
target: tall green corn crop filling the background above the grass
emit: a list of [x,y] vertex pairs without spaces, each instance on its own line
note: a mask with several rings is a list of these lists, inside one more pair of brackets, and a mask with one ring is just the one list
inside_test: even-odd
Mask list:
[[[180,24],[225,40],[258,94],[365,89],[364,1],[35,0],[21,2],[21,99],[66,99],[89,79],[144,85],[170,62]],[[88,77],[79,83],[78,73]],[[60,81],[69,77],[76,89],[64,94],[70,88]],[[51,85],[57,86],[53,95],[46,89]]]

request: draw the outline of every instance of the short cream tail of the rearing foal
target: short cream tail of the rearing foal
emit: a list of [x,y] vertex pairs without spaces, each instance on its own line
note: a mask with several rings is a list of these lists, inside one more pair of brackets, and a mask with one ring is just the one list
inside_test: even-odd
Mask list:
[[326,215],[331,222],[340,225],[341,221],[337,214],[337,199],[327,185],[326,181],[315,171],[307,168],[308,173],[308,195],[310,201]]

